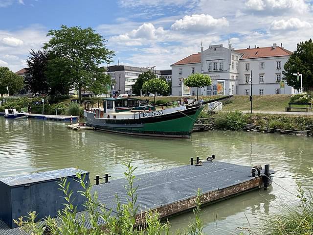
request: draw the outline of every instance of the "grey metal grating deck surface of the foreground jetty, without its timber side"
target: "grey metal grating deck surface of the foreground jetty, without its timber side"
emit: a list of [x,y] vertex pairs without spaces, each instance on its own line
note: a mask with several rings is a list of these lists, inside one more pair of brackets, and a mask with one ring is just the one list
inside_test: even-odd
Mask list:
[[[273,173],[273,171],[271,171]],[[185,165],[177,168],[161,170],[136,176],[137,205],[142,211],[170,205],[197,195],[198,188],[203,193],[235,186],[251,180],[251,167],[223,162],[204,163],[201,166]],[[126,180],[112,180],[108,184],[93,186],[99,201],[116,213],[115,196],[121,203],[126,203]],[[81,212],[84,213],[84,212]],[[80,213],[78,213],[80,214]],[[102,223],[103,221],[99,221]],[[88,226],[88,222],[86,222]],[[0,235],[20,234],[18,228],[9,229],[0,221]]]

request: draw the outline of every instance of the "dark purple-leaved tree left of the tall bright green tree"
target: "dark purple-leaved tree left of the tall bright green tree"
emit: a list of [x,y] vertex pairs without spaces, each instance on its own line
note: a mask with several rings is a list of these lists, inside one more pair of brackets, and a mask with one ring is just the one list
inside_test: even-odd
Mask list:
[[45,50],[29,51],[26,60],[27,70],[25,74],[25,85],[33,93],[48,94],[49,85],[45,75],[48,63],[48,54]]

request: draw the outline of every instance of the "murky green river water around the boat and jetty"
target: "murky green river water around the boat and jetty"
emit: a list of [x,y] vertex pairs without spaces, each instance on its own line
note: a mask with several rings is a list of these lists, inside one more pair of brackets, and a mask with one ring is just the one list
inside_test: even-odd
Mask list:
[[[299,181],[305,188],[313,189],[312,137],[210,131],[193,133],[191,140],[160,140],[74,131],[67,129],[66,124],[0,117],[0,178],[79,167],[90,172],[91,182],[96,174],[107,172],[111,179],[123,177],[122,163],[127,156],[138,166],[136,174],[141,174],[188,164],[190,157],[215,154],[218,161],[227,163],[270,164],[279,177],[310,178]],[[286,191],[296,193],[293,179],[274,178],[274,182],[283,188],[273,184],[267,191],[255,190],[204,207],[204,231],[208,235],[224,235],[236,227],[248,227],[249,223],[257,227],[268,213],[279,211],[284,204],[297,203]],[[173,230],[186,227],[190,217],[193,218],[192,212],[172,217]]]

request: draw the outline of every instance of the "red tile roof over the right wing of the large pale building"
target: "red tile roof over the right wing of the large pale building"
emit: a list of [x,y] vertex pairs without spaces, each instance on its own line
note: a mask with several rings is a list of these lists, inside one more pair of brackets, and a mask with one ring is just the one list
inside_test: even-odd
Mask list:
[[259,48],[251,48],[251,49],[239,49],[235,50],[243,54],[240,59],[255,59],[255,58],[266,58],[266,57],[276,57],[276,56],[288,56],[291,55],[292,52],[282,48],[282,47],[259,47]]

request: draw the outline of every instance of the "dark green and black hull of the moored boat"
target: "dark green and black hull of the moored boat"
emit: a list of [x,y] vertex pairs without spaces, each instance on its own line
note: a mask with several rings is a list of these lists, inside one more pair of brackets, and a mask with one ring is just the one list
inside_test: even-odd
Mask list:
[[137,119],[94,118],[85,113],[87,124],[97,130],[138,136],[190,138],[195,120],[203,107],[197,106],[180,112]]

